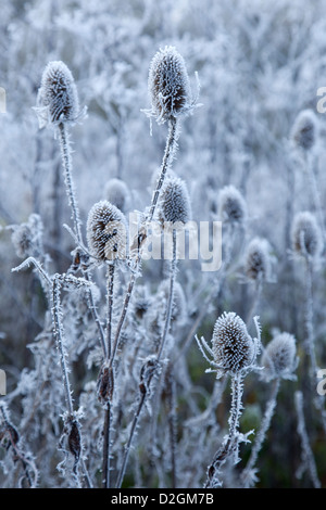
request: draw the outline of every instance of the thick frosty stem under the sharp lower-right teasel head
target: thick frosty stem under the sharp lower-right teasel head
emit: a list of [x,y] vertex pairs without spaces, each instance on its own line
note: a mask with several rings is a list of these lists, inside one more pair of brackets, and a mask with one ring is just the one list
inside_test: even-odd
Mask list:
[[231,378],[231,407],[229,416],[229,431],[224,444],[216,451],[211,466],[208,469],[208,479],[204,488],[212,488],[220,484],[217,475],[221,466],[231,455],[237,452],[237,435],[239,418],[241,415],[241,398],[243,393],[242,374],[237,373]]

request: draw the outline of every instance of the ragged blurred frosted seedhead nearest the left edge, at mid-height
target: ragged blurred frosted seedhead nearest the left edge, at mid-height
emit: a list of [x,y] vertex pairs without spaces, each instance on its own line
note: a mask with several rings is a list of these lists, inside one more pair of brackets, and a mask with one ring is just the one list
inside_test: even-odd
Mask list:
[[11,240],[20,258],[40,255],[43,227],[39,215],[32,214],[27,222],[9,228],[12,230]]

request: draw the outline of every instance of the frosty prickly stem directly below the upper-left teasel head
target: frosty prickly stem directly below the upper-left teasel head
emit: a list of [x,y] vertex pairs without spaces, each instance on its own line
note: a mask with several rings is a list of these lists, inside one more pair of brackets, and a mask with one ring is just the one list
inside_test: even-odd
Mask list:
[[71,151],[70,141],[68,141],[68,131],[64,123],[59,124],[58,130],[59,130],[62,165],[64,168],[65,186],[66,186],[66,192],[68,196],[68,203],[72,208],[72,218],[74,221],[75,234],[78,241],[82,242],[79,211],[78,211],[77,201],[75,197],[73,177],[72,177],[73,164],[72,164],[72,151]]

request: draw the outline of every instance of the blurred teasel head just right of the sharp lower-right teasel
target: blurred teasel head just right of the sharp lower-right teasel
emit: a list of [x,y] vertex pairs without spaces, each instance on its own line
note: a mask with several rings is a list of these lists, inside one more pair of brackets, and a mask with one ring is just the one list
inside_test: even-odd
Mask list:
[[275,336],[263,354],[262,365],[262,378],[265,381],[276,378],[293,379],[298,366],[294,336],[290,333],[279,333]]

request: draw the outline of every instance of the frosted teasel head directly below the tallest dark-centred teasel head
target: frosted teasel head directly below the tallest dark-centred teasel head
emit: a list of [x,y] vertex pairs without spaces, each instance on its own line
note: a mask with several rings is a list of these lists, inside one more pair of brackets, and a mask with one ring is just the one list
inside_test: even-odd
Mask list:
[[166,179],[161,192],[159,215],[162,222],[186,224],[191,218],[190,197],[186,182],[178,177]]

